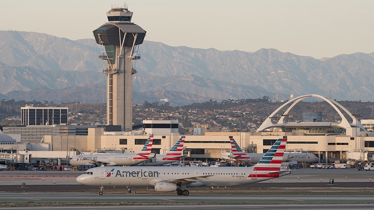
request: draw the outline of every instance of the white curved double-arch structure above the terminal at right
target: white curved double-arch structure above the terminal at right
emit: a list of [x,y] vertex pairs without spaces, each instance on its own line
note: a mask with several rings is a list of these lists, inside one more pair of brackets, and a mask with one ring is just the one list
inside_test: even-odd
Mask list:
[[[310,94],[310,95],[303,95],[303,96],[299,96],[299,97],[296,97],[288,102],[286,102],[285,104],[283,104],[282,106],[280,106],[278,109],[276,109],[272,114],[269,115],[268,118],[266,118],[266,120],[261,124],[261,126],[257,129],[257,132],[261,132],[265,129],[268,129],[270,127],[274,127],[275,125],[279,125],[279,124],[284,124],[284,118],[285,116],[288,114],[288,112],[298,103],[300,102],[301,100],[305,99],[305,98],[309,98],[309,97],[316,97],[316,98],[320,98],[324,101],[326,101],[328,104],[330,104],[332,106],[332,108],[335,109],[336,112],[338,112],[338,114],[340,115],[341,117],[341,121],[340,123],[337,125],[337,127],[342,127],[344,129],[346,129],[347,131],[347,135],[352,135],[352,130],[350,131],[350,129],[353,127],[359,127],[360,130],[365,130],[365,128],[362,126],[362,124],[360,123],[360,121],[357,120],[357,118],[355,116],[352,115],[352,113],[350,111],[348,111],[348,109],[344,108],[344,106],[342,106],[341,104],[339,104],[338,102],[336,101],[333,101],[331,99],[328,99],[328,98],[325,98],[323,96],[320,96],[320,95],[316,95],[316,94]],[[285,107],[286,105],[288,104],[291,104],[292,102],[294,102],[291,106],[289,106],[289,108],[281,115],[281,118],[279,119],[278,123],[277,124],[273,124],[272,123],[272,118],[274,118],[274,116],[276,115],[276,113],[279,112],[279,110],[281,110],[283,107]],[[348,122],[348,120],[346,119],[346,117],[344,117],[343,113],[338,109],[339,106],[341,109],[343,109],[343,111],[345,111],[350,118],[352,118],[352,124],[350,124]]]

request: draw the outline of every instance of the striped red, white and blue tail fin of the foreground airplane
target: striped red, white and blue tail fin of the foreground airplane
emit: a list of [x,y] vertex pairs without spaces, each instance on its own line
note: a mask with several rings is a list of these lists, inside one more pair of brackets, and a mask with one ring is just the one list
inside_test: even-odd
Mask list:
[[279,171],[283,159],[283,153],[286,148],[287,139],[278,139],[273,144],[264,157],[255,165],[257,171]]

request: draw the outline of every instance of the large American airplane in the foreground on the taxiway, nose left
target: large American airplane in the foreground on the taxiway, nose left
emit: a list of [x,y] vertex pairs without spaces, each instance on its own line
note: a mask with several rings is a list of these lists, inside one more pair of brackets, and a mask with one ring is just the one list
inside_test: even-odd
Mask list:
[[82,185],[146,186],[156,192],[177,192],[189,195],[187,188],[197,186],[238,186],[275,179],[291,173],[281,169],[287,139],[278,139],[263,158],[251,167],[96,167],[77,177]]

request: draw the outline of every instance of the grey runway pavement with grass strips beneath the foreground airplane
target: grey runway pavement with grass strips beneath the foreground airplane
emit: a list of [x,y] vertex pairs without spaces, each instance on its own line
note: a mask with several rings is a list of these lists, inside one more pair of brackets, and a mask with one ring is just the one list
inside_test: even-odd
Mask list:
[[[122,206],[123,208],[123,205],[137,206],[134,209],[142,209],[142,205],[152,205],[152,209],[155,209],[154,207],[161,204],[167,205],[162,209],[169,209],[174,205],[183,205],[182,209],[193,209],[190,207],[196,203],[214,205],[214,209],[230,209],[226,205],[233,205],[236,208],[237,205],[241,205],[241,209],[242,207],[243,209],[249,209],[249,207],[261,209],[266,204],[280,204],[277,209],[283,209],[283,207],[284,209],[294,209],[297,205],[303,206],[296,209],[324,209],[321,208],[322,204],[334,204],[327,207],[329,209],[374,208],[374,180],[371,181],[371,178],[374,179],[374,171],[298,169],[292,171],[290,175],[278,179],[240,187],[189,188],[189,196],[156,193],[154,189],[150,188],[150,191],[147,191],[144,187],[131,188],[132,193],[128,193],[126,186],[106,187],[104,195],[100,196],[98,195],[99,186],[85,186],[76,182],[76,176],[82,173],[79,171],[0,172],[0,198],[5,204],[10,202],[27,203],[32,207],[33,203],[34,205],[37,203],[46,203],[46,205],[59,203],[61,208],[74,204],[80,205],[79,209],[86,207],[95,209],[97,206],[100,206],[100,209],[105,209],[105,206],[116,209],[113,207]],[[334,179],[333,185],[329,183],[329,179]],[[22,183],[25,183],[24,187],[21,187]],[[134,191],[137,193],[134,194]],[[221,208],[222,204],[224,205]],[[309,204],[319,205],[306,207]],[[340,206],[340,204],[344,204],[344,206]],[[291,205],[291,207],[286,207],[287,205]],[[204,209],[209,209],[208,206],[204,206]],[[337,206],[340,208],[335,208]],[[7,208],[9,207],[12,206],[7,206]],[[181,209],[180,206],[177,208]],[[196,208],[199,207],[194,209]]]

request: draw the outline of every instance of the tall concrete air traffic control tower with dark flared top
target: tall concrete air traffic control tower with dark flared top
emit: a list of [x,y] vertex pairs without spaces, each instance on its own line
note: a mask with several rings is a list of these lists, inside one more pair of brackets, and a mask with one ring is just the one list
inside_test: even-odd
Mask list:
[[[132,75],[137,71],[133,61],[145,33],[131,22],[132,12],[125,7],[112,7],[107,12],[108,23],[93,31],[96,43],[101,46],[107,75],[107,124],[120,125],[123,131],[132,130]],[[105,65],[106,63],[106,65]]]

